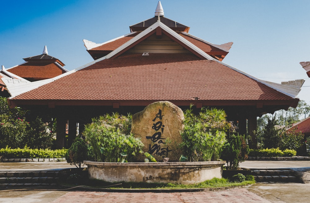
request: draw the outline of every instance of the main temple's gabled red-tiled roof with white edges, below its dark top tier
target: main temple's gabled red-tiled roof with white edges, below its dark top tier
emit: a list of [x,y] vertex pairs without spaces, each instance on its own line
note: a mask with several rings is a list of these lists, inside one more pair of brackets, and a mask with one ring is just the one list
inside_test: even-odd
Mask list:
[[[142,32],[105,43],[104,57],[60,76],[10,91],[16,105],[146,106],[167,100],[178,106],[249,106],[253,116],[296,107],[303,81],[277,84],[224,64],[216,54],[228,45],[178,33],[157,20]],[[121,39],[126,38],[122,41]],[[210,45],[210,44],[209,44]],[[95,48],[95,47],[93,47]]]

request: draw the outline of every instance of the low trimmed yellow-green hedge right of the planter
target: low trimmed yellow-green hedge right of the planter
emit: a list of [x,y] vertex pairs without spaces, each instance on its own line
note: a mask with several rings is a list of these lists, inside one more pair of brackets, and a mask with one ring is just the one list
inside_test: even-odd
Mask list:
[[286,149],[284,151],[279,148],[271,149],[250,149],[249,157],[293,157],[297,152],[294,149]]

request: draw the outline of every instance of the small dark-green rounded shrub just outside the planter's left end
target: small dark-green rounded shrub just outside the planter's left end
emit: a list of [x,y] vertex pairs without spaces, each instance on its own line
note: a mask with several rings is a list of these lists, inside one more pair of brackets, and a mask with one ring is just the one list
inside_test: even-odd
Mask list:
[[75,165],[77,168],[81,168],[84,160],[88,159],[88,148],[85,141],[76,137],[68,149],[66,154],[66,160],[70,165]]

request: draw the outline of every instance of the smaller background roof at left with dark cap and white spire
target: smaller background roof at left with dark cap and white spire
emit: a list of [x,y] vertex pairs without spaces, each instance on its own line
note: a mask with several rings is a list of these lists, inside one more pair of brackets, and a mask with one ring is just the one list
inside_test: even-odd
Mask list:
[[24,60],[25,63],[7,68],[6,71],[29,81],[44,80],[67,72],[63,67],[64,63],[47,54],[46,46],[43,54],[24,58]]

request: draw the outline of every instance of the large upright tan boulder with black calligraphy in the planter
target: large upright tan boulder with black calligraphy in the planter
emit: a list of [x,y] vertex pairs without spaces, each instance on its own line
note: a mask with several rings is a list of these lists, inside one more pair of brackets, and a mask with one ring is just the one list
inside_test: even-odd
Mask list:
[[169,158],[169,162],[179,161],[183,121],[183,111],[176,105],[168,101],[154,102],[132,116],[131,133],[141,137],[143,151],[157,161],[164,158]]

